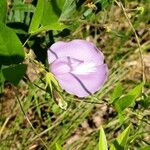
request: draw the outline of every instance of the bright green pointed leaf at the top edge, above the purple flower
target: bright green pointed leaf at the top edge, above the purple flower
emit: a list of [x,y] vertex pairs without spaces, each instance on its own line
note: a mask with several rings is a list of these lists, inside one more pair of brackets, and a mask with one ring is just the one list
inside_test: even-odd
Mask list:
[[57,4],[57,1],[38,0],[29,33],[37,34],[42,31],[64,29],[64,26],[58,22],[61,14],[60,4],[62,2]]

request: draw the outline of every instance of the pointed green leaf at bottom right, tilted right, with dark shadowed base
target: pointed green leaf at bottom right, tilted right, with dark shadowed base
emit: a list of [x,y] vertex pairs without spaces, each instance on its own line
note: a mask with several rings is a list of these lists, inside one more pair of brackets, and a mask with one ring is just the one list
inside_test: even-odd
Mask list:
[[117,139],[111,144],[110,150],[125,149],[130,134],[130,128],[131,126],[129,125],[120,135],[118,135]]

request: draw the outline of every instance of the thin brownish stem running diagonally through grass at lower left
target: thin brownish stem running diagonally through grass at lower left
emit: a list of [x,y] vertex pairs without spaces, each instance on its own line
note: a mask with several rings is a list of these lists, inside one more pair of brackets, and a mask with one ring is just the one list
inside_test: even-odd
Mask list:
[[45,143],[45,142],[42,140],[42,138],[39,136],[39,134],[37,133],[36,129],[33,127],[33,125],[32,125],[32,123],[31,123],[30,119],[29,119],[28,116],[26,115],[26,113],[25,113],[25,111],[24,111],[24,109],[23,109],[23,106],[22,106],[22,104],[21,104],[21,100],[20,100],[19,97],[18,97],[18,92],[17,92],[16,88],[15,88],[15,87],[13,87],[13,88],[14,88],[14,92],[15,92],[17,101],[18,101],[18,103],[19,103],[19,106],[20,106],[20,109],[21,109],[23,115],[25,116],[27,122],[28,122],[29,125],[31,126],[32,130],[34,131],[34,133],[37,135],[37,137],[38,137],[38,138],[40,139],[40,141],[43,143],[43,145],[45,146],[45,148],[48,150],[48,147],[47,147],[46,143]]

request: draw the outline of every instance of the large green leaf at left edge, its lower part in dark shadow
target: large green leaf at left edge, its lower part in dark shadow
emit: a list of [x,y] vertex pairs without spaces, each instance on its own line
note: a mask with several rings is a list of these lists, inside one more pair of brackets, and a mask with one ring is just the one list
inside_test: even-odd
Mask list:
[[15,32],[0,23],[0,64],[17,64],[24,60],[22,44]]

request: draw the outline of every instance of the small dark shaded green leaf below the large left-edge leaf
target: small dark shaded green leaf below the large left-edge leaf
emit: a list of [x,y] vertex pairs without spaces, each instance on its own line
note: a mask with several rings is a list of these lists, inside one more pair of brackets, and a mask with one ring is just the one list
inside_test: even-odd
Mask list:
[[12,84],[17,85],[26,73],[26,70],[26,64],[18,64],[2,68],[2,73],[7,81],[10,81]]

